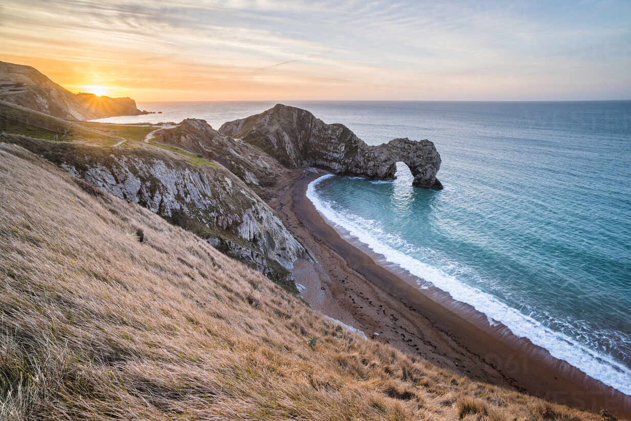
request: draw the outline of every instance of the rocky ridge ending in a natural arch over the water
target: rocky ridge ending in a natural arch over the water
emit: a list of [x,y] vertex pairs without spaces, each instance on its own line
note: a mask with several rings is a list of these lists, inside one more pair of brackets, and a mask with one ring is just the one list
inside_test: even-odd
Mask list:
[[307,110],[282,104],[226,122],[219,131],[256,146],[289,168],[317,167],[339,175],[389,180],[394,178],[396,162],[403,161],[415,186],[442,188],[436,178],[440,155],[428,140],[394,139],[369,146],[343,124],[326,124]]

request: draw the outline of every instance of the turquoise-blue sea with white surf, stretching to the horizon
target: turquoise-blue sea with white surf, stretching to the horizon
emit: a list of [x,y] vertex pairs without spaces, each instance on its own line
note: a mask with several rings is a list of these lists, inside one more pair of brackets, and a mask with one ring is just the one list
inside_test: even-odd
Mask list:
[[[154,102],[215,128],[276,102]],[[631,101],[296,102],[369,145],[430,139],[444,189],[325,175],[317,210],[389,264],[631,394]]]

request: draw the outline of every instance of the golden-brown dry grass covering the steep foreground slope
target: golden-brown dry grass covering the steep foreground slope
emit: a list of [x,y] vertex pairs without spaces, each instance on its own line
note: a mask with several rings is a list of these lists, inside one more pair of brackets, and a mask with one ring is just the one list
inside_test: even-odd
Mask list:
[[4,144],[0,256],[3,420],[601,419],[363,340]]

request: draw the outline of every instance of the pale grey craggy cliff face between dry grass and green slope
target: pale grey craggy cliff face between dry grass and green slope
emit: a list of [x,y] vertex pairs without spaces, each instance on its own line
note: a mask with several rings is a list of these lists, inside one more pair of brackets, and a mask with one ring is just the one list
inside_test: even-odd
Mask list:
[[76,177],[200,235],[289,289],[290,270],[309,253],[244,182],[221,165],[191,165],[151,146],[98,148],[0,134]]

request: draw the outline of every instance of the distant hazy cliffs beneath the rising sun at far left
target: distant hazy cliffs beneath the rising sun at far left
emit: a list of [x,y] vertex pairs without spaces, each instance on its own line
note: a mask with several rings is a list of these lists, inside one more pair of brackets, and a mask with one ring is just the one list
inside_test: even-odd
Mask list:
[[131,98],[72,93],[37,69],[0,61],[0,97],[28,109],[63,119],[91,120],[143,114]]

